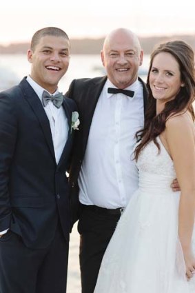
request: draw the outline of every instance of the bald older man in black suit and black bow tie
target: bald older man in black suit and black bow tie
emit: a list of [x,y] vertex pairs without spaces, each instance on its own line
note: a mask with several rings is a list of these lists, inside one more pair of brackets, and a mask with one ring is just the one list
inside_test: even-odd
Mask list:
[[[67,93],[76,101],[81,118],[70,185],[74,211],[76,205],[80,207],[83,293],[94,292],[107,244],[137,188],[131,154],[147,103],[145,83],[138,79],[143,50],[133,32],[124,28],[111,32],[105,38],[101,59],[107,77],[74,80]],[[74,220],[77,218],[75,214]]]

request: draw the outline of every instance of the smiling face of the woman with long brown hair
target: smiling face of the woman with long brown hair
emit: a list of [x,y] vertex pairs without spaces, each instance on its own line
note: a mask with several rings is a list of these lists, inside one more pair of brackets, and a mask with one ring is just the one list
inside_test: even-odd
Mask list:
[[154,57],[149,82],[157,105],[165,104],[176,97],[184,84],[181,81],[179,64],[172,54],[161,52]]

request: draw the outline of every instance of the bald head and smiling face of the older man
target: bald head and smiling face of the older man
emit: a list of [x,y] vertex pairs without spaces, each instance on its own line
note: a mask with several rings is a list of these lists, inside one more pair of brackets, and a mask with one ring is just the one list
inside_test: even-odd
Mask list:
[[105,39],[101,59],[108,79],[116,88],[123,89],[136,81],[143,51],[132,32],[119,29]]

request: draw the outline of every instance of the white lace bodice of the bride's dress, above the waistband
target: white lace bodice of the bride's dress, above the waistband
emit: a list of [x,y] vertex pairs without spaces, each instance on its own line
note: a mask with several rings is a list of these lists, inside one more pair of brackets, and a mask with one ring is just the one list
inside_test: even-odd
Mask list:
[[158,137],[157,141],[161,148],[160,152],[158,153],[158,148],[153,141],[148,143],[138,156],[136,163],[138,170],[140,172],[175,177],[174,163]]

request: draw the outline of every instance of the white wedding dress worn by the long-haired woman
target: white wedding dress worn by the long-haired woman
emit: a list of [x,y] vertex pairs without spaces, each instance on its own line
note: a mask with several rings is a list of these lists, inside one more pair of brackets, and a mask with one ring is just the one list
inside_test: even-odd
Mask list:
[[[161,140],[138,157],[139,185],[107,247],[94,293],[195,293],[187,281],[178,239],[180,192],[173,161]],[[195,239],[195,230],[193,234]],[[193,250],[195,243],[193,240]]]

